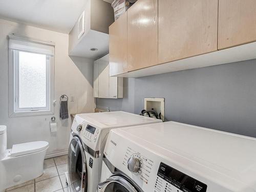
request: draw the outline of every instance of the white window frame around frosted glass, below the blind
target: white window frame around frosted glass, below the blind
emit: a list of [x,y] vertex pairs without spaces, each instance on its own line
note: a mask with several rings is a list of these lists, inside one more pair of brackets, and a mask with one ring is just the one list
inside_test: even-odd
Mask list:
[[[37,116],[54,114],[54,56],[47,56],[47,98],[45,108],[18,108],[18,52],[23,50],[9,49],[9,117]],[[33,53],[33,52],[31,52]],[[16,94],[17,93],[17,94]]]

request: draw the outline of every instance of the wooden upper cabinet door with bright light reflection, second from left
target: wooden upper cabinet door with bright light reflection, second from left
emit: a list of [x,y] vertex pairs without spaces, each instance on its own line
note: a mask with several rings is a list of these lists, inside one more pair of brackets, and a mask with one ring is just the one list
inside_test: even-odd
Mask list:
[[157,65],[158,1],[138,0],[127,10],[127,18],[128,71]]

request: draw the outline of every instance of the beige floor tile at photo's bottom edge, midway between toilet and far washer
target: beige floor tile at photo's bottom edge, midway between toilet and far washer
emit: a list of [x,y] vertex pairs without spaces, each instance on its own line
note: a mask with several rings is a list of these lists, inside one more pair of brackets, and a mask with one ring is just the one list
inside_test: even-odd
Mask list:
[[58,176],[35,183],[36,192],[53,192],[59,189],[62,189],[62,186]]

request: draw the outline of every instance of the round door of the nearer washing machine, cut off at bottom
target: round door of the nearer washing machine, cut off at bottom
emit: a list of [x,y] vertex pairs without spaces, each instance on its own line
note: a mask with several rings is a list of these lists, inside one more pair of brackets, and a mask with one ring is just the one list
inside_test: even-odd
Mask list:
[[98,185],[98,192],[139,192],[129,181],[120,176],[112,176]]

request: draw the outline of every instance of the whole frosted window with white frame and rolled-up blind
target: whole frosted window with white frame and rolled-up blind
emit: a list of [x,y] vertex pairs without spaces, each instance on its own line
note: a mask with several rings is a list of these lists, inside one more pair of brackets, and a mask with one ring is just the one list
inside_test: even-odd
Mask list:
[[54,47],[9,35],[10,116],[53,114]]

